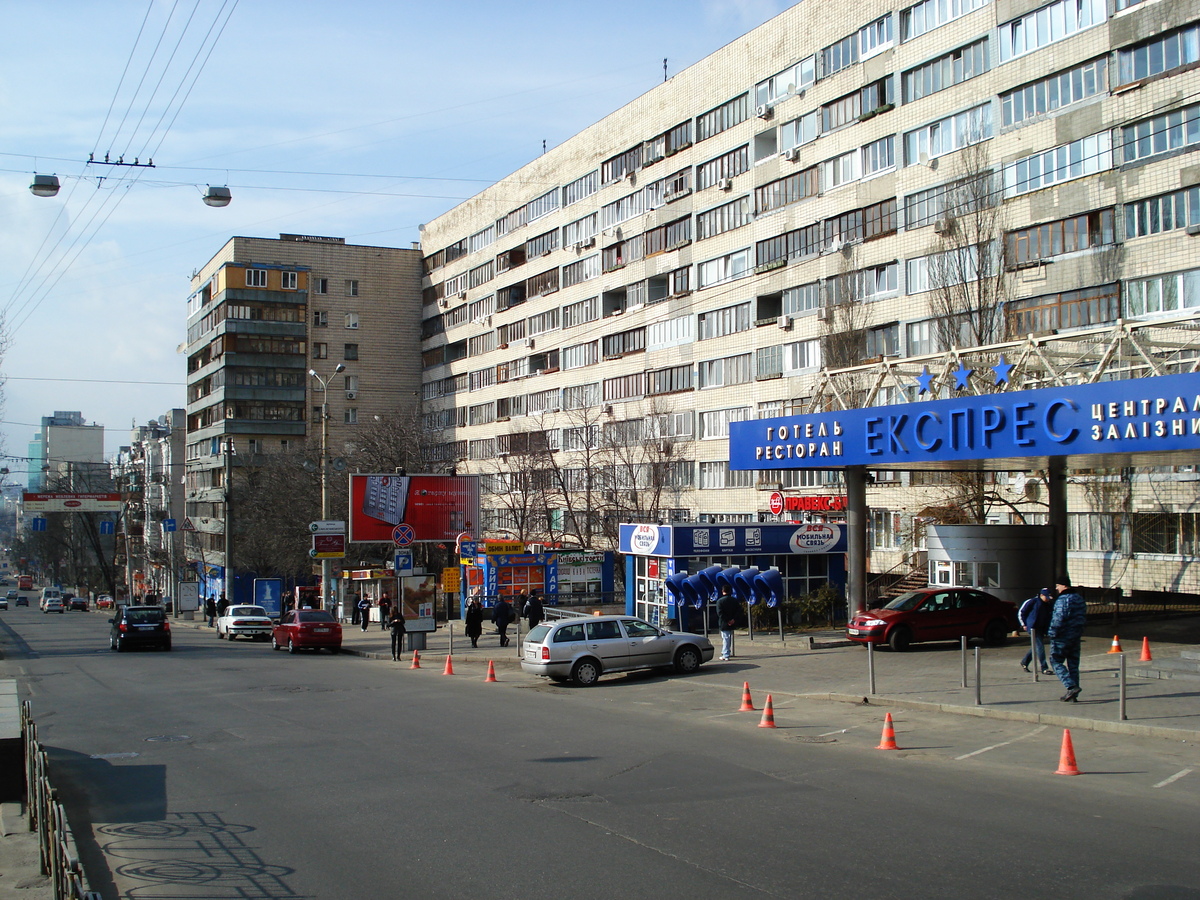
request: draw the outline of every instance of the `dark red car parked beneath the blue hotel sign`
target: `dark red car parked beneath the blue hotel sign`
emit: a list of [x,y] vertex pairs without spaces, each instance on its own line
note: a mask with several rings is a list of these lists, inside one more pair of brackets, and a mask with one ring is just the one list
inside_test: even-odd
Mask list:
[[996,646],[1016,629],[1016,604],[973,588],[924,588],[857,613],[846,626],[846,637],[906,650],[910,644],[964,636]]

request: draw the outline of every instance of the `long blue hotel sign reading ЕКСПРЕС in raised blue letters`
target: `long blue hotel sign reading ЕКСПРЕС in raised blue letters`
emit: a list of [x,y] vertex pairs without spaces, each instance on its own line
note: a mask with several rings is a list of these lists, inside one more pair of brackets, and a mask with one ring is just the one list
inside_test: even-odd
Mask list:
[[1198,449],[1200,373],[730,425],[731,469],[904,466]]

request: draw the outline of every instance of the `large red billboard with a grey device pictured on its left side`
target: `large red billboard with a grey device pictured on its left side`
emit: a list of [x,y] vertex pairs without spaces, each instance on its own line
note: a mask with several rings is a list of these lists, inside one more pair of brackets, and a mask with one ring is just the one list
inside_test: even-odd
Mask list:
[[352,544],[454,541],[479,524],[479,478],[350,475],[347,521]]

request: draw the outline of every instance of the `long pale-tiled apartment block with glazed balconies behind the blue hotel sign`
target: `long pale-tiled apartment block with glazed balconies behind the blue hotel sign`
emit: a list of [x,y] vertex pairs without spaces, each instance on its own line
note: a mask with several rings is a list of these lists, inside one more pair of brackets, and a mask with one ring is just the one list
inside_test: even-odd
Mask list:
[[[792,7],[425,227],[436,463],[527,540],[775,521],[838,474],[730,470],[728,424],[808,412],[828,370],[1151,319],[1195,343],[1198,62],[1192,0]],[[1200,589],[1195,478],[1073,479],[1076,580]],[[1044,521],[1032,476],[989,479],[991,521]],[[946,481],[878,473],[874,571]]]

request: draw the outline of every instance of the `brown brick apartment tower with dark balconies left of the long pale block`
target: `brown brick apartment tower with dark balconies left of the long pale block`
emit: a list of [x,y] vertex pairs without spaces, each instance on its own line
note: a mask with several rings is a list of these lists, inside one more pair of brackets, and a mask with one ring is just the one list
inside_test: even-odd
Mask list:
[[415,248],[281,234],[233,238],[193,275],[186,553],[205,595],[227,589],[227,464],[306,449],[316,466],[323,408],[341,456],[360,425],[419,394],[420,264]]

